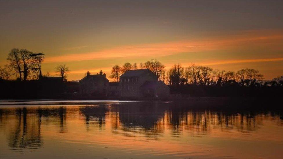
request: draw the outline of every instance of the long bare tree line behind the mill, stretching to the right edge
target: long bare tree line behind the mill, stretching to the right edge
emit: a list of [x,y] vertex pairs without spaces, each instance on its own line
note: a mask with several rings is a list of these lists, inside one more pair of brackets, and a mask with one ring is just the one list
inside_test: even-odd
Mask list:
[[164,81],[167,85],[239,85],[239,86],[283,86],[283,76],[278,76],[272,81],[265,81],[264,76],[258,70],[246,68],[234,71],[217,70],[207,66],[191,64],[182,67],[181,64],[174,64],[167,71],[165,65],[156,59],[151,59],[145,63],[125,63],[123,66],[112,67],[110,78],[119,82],[121,74],[128,70],[150,69],[159,81]]

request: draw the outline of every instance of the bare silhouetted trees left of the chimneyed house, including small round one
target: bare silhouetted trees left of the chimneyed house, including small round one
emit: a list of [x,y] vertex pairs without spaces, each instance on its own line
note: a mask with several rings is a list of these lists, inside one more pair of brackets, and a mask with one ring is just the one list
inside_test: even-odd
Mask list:
[[[13,48],[8,53],[8,64],[4,67],[0,66],[0,80],[8,80],[11,76],[15,76],[19,81],[27,81],[28,79],[39,80],[42,76],[50,76],[49,72],[42,74],[41,65],[45,59],[45,54],[34,53],[26,49]],[[70,72],[66,64],[58,64],[55,72],[62,80],[67,81],[67,73]]]

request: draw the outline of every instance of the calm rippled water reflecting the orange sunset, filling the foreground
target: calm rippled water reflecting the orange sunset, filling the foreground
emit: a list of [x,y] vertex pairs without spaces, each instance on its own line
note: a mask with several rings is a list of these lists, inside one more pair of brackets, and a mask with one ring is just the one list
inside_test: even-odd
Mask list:
[[164,102],[0,104],[0,158],[282,158],[282,112]]

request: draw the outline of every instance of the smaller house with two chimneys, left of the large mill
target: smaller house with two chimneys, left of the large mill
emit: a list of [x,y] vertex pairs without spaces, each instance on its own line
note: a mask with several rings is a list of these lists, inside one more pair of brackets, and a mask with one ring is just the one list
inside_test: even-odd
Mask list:
[[109,91],[109,80],[102,71],[95,75],[90,75],[87,72],[86,76],[79,81],[79,88],[81,94],[107,95]]

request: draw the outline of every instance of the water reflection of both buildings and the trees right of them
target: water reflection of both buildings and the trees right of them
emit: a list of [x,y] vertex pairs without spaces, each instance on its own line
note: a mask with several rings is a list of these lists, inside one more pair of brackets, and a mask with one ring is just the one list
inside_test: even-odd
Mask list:
[[[87,129],[100,131],[110,125],[113,134],[159,138],[168,129],[173,136],[208,134],[215,130],[256,131],[263,124],[264,114],[257,112],[220,112],[190,110],[163,103],[130,103],[86,106],[79,109]],[[268,113],[268,112],[266,112]],[[248,118],[252,116],[252,118]]]

